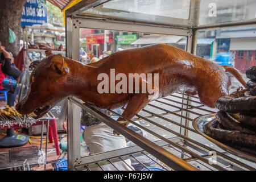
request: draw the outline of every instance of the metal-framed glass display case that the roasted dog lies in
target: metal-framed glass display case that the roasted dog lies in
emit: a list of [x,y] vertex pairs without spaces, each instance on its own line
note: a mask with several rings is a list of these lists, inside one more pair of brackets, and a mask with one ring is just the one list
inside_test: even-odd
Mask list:
[[[66,55],[86,63],[88,57],[80,58],[81,47],[87,56],[93,53],[101,59],[108,51],[164,43],[220,65],[233,65],[247,81],[245,70],[256,65],[255,9],[253,0],[81,1],[66,11]],[[232,90],[238,86],[232,77]],[[119,150],[82,155],[81,150],[77,150],[81,109],[101,119],[133,144]],[[130,159],[131,167],[141,165],[136,166],[137,170],[156,166],[163,170],[254,170],[255,159],[242,158],[217,146],[192,126],[193,119],[216,111],[201,104],[197,96],[176,92],[150,102],[133,119],[128,119],[129,128],[96,107],[70,97],[68,167],[104,169],[105,164],[114,166],[115,162],[125,163]],[[212,163],[213,158],[216,163]]]

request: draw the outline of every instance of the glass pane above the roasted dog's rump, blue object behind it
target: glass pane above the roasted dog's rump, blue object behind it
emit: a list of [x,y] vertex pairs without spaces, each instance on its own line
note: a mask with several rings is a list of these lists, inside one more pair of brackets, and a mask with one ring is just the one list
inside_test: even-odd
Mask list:
[[[256,27],[199,31],[197,35],[197,56],[213,60],[220,65],[232,65],[240,71],[246,82],[249,80],[245,71],[256,65]],[[236,91],[238,86],[241,86],[240,82],[232,76],[230,93]]]

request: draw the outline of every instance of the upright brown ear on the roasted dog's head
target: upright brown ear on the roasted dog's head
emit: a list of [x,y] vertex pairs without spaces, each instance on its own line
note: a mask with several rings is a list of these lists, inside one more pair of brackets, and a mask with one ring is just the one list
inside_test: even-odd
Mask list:
[[68,64],[64,61],[64,58],[60,54],[54,55],[52,57],[51,68],[53,71],[61,75],[65,73],[65,68],[67,67],[68,67]]

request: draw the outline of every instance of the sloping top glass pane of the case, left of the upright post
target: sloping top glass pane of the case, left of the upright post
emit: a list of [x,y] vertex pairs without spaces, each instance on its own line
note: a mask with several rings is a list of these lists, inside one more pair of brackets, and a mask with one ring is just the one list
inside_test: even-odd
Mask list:
[[190,0],[113,0],[85,13],[170,24],[170,17],[188,19],[189,6]]

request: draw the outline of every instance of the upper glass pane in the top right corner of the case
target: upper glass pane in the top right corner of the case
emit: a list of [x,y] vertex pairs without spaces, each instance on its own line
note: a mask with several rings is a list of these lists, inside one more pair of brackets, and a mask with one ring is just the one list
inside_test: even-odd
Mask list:
[[255,19],[255,9],[255,0],[203,0],[200,4],[199,26]]

